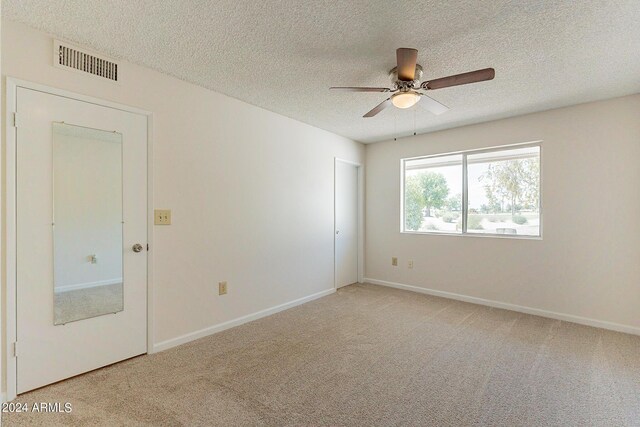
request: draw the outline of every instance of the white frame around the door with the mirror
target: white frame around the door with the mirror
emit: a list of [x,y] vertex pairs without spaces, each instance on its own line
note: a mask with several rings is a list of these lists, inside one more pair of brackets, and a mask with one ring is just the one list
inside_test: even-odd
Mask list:
[[[17,338],[17,257],[16,257],[16,123],[14,120],[18,88],[31,89],[50,95],[61,96],[81,102],[88,102],[102,107],[135,113],[147,118],[147,354],[153,352],[153,113],[128,105],[118,104],[91,96],[81,95],[75,92],[53,88],[50,86],[33,83],[13,77],[6,78],[6,104],[5,104],[5,137],[6,137],[6,301],[1,301],[0,308],[6,310],[6,341],[4,343],[4,357],[7,373],[7,401],[17,396],[17,364],[15,347]],[[17,119],[19,121],[19,118]],[[19,123],[18,123],[19,124]],[[18,349],[19,352],[19,349]]]

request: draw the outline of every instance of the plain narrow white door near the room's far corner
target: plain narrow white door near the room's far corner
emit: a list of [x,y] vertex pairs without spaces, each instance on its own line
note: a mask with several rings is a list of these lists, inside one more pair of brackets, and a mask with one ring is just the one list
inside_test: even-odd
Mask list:
[[358,281],[358,166],[336,161],[336,287]]

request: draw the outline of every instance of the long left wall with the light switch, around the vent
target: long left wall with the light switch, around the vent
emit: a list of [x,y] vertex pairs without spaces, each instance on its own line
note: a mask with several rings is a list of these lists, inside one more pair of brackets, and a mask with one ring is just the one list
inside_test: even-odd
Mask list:
[[362,144],[129,63],[121,84],[57,69],[52,43],[3,21],[3,76],[154,113],[155,343],[333,287],[334,156]]

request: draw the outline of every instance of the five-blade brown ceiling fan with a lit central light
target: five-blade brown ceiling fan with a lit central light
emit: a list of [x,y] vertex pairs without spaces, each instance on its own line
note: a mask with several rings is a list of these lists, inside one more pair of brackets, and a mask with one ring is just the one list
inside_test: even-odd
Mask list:
[[332,87],[332,90],[343,90],[348,92],[389,92],[393,93],[389,98],[378,104],[373,110],[363,117],[373,117],[380,111],[393,105],[397,108],[409,108],[418,101],[424,99],[422,104],[433,114],[442,114],[449,111],[449,107],[441,104],[420,90],[435,90],[445,87],[465,85],[468,83],[491,80],[496,72],[493,68],[470,71],[468,73],[456,74],[448,77],[441,77],[435,80],[421,82],[422,66],[417,63],[418,50],[401,47],[396,50],[398,66],[389,71],[389,78],[393,83],[393,88],[386,87]]

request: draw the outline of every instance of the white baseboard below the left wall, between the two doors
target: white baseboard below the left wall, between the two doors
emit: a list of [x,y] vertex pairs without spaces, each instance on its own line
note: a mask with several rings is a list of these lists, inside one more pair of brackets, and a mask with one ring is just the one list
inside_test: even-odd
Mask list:
[[219,323],[217,325],[209,326],[204,329],[200,329],[199,331],[190,332],[188,334],[181,335],[176,338],[171,338],[166,341],[159,342],[154,344],[153,350],[149,353],[157,353],[159,351],[168,350],[172,347],[176,347],[181,344],[188,343],[189,341],[197,340],[199,338],[204,338],[208,335],[212,335],[218,332],[222,332],[225,329],[233,328],[235,326],[240,326],[244,323],[251,322],[253,320],[258,320],[266,316],[270,316],[272,314],[278,313],[280,311],[295,307],[297,305],[304,304],[309,301],[313,301],[318,298],[322,298],[327,295],[331,295],[336,290],[335,288],[327,289],[326,291],[318,292],[306,297],[298,298],[293,301],[286,302],[284,304],[277,305],[275,307],[267,308],[266,310],[261,310],[256,313],[248,314],[246,316],[238,317],[237,319],[229,320],[227,322]]

